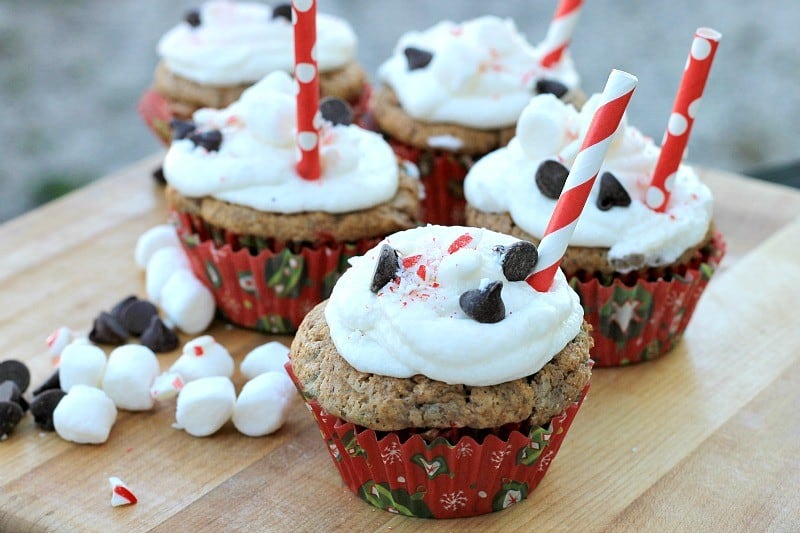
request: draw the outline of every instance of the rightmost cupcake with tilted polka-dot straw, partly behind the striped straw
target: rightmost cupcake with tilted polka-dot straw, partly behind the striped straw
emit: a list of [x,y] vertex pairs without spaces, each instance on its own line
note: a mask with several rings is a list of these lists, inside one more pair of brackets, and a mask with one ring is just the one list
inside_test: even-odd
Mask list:
[[[468,223],[538,243],[598,101],[578,112],[552,95],[531,99],[516,137],[467,175]],[[623,119],[561,263],[593,327],[598,366],[675,346],[724,253],[711,192],[688,165],[672,181],[666,211],[647,207],[658,156]]]

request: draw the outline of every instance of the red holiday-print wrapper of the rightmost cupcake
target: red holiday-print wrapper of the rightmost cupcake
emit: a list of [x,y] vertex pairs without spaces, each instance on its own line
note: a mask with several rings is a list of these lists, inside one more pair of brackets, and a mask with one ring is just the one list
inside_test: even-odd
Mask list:
[[592,359],[598,367],[623,366],[669,352],[683,336],[697,302],[725,254],[717,232],[702,256],[669,279],[570,277],[592,325]]

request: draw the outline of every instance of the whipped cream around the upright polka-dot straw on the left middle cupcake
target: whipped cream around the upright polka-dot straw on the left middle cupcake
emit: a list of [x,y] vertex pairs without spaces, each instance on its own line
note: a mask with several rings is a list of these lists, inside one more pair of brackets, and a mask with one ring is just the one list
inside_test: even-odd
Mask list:
[[344,213],[373,207],[397,192],[397,159],[383,138],[350,125],[322,120],[317,180],[295,169],[297,131],[295,83],[273,72],[221,110],[200,109],[200,132],[222,132],[219,150],[190,139],[172,142],[164,177],[181,194],[211,196],[273,213]]

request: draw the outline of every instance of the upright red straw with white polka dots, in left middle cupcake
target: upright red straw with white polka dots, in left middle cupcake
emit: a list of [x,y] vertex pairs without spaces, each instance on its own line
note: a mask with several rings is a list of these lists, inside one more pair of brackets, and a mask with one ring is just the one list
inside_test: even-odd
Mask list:
[[319,110],[319,73],[317,71],[317,1],[292,0],[294,21],[294,77],[297,92],[297,147],[300,159],[297,173],[301,178],[316,180],[320,176],[319,127],[315,117]]

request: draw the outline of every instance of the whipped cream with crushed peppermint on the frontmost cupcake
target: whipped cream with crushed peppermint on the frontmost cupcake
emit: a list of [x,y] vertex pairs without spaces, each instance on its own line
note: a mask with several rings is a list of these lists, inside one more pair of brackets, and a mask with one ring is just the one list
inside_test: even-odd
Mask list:
[[[458,248],[457,240],[469,242]],[[357,370],[397,378],[481,386],[536,373],[578,334],[583,309],[561,271],[543,293],[503,276],[495,247],[517,241],[458,226],[390,235],[351,259],[334,287],[325,308],[334,345]],[[402,266],[376,294],[370,280],[382,244],[397,250]],[[467,317],[460,295],[493,281],[503,283],[505,317],[492,324]]]

